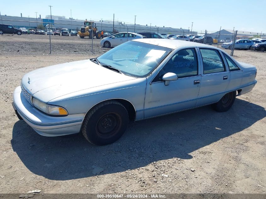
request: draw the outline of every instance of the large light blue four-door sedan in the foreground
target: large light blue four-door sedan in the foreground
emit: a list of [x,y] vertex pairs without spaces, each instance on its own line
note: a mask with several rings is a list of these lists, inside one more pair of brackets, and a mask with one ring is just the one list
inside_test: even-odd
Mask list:
[[216,47],[136,39],[97,58],[25,74],[12,105],[40,135],[81,132],[92,144],[107,145],[123,135],[129,121],[209,104],[217,112],[228,111],[236,96],[252,91],[256,74],[255,66]]

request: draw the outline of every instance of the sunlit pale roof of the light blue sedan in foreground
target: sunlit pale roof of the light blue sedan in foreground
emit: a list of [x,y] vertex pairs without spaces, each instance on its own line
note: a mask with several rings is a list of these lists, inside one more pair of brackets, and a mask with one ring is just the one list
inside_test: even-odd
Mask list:
[[156,46],[161,46],[161,47],[167,47],[167,48],[178,48],[178,47],[208,47],[208,48],[213,48],[213,49],[218,49],[221,50],[217,47],[213,47],[210,45],[202,44],[202,43],[196,43],[192,41],[182,41],[182,40],[176,40],[176,39],[134,39],[133,41],[139,41],[142,43],[147,43],[147,44],[152,44]]

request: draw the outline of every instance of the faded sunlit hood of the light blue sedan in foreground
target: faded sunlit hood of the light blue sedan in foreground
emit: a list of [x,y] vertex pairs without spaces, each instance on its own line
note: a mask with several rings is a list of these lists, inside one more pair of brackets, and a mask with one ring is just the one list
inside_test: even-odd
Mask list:
[[90,60],[58,64],[25,74],[23,86],[43,102],[76,91],[135,79],[106,69]]

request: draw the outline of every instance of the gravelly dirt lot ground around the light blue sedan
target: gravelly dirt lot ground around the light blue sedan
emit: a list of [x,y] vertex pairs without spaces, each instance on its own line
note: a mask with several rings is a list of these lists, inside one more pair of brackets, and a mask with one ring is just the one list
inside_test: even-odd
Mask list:
[[207,106],[131,123],[119,141],[93,146],[82,135],[38,135],[11,102],[25,73],[95,55],[59,37],[52,55],[41,42],[1,38],[0,193],[265,193],[266,53],[235,51],[257,66],[258,84],[228,112]]

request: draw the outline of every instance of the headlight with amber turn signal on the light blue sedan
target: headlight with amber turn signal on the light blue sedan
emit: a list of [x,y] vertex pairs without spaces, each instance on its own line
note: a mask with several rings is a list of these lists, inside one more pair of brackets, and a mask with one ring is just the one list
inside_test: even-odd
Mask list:
[[32,103],[33,103],[33,106],[35,108],[38,108],[40,111],[42,111],[44,113],[47,113],[49,115],[61,115],[61,116],[68,115],[68,113],[65,110],[65,108],[43,103],[43,102],[41,102],[40,100],[37,100],[34,97],[32,98]]

